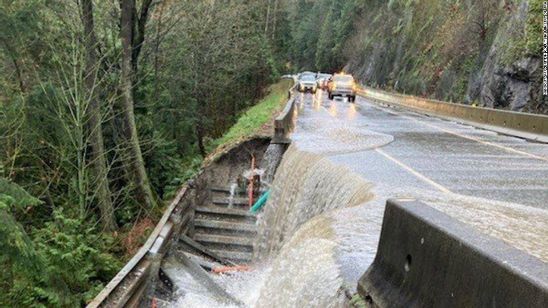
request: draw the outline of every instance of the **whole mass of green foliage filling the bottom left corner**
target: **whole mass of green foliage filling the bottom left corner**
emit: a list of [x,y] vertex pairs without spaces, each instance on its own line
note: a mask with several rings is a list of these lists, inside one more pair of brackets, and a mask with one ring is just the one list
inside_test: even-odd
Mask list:
[[120,262],[111,237],[68,218],[62,210],[30,236],[11,212],[42,202],[0,178],[0,304],[7,307],[76,307],[89,301]]

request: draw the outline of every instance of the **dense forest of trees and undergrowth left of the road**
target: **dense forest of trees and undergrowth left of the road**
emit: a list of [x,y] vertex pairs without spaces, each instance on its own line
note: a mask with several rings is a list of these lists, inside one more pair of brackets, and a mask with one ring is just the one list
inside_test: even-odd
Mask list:
[[0,1],[0,306],[84,306],[287,60],[278,0]]

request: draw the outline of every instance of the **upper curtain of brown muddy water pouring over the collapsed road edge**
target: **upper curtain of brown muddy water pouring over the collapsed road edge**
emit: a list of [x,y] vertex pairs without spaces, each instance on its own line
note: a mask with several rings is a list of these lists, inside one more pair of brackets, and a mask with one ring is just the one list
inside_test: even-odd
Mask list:
[[362,204],[372,197],[371,187],[328,158],[290,146],[259,222],[255,258],[279,251],[302,223],[317,214]]

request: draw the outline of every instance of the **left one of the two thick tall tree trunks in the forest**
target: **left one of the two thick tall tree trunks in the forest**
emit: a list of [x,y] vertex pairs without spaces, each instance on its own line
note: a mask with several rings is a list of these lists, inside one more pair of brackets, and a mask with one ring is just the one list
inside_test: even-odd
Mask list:
[[89,130],[90,143],[92,146],[92,161],[96,177],[96,189],[98,196],[101,220],[105,229],[112,231],[116,229],[114,219],[114,207],[112,205],[111,191],[107,177],[107,165],[105,159],[105,147],[101,129],[101,108],[96,95],[95,78],[99,68],[99,62],[95,48],[97,45],[93,25],[93,0],[82,0],[82,22],[85,36],[85,91],[89,100]]

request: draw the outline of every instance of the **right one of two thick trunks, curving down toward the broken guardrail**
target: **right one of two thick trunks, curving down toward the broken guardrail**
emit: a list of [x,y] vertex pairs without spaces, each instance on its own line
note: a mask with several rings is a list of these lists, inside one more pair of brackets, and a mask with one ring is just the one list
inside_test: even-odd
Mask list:
[[134,180],[138,190],[138,199],[147,209],[156,206],[149,179],[146,175],[145,163],[142,159],[137,127],[135,126],[135,114],[133,110],[132,91],[132,32],[134,0],[122,0],[120,37],[122,39],[122,92],[123,92],[123,118],[125,123],[125,138],[128,142],[129,152],[132,155],[130,164],[133,167]]

